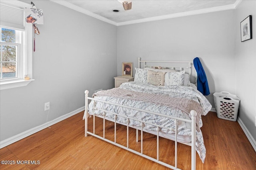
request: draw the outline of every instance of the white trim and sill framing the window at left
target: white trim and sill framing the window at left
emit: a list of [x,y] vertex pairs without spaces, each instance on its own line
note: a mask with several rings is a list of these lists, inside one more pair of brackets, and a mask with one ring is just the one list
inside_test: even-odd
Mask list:
[[[31,8],[31,4],[27,4],[18,0],[1,0],[1,3],[16,6],[18,8]],[[7,29],[14,29],[12,27],[7,27],[5,25],[0,25],[1,27],[7,28]],[[24,80],[24,75],[19,75],[20,77],[18,79],[12,79],[12,80],[4,80],[0,82],[0,90],[5,90],[9,88],[17,88],[22,86],[27,86],[30,82],[34,81],[32,77],[32,49],[33,49],[33,29],[31,23],[25,22],[25,30],[23,31],[24,38],[21,42],[21,55],[23,56],[22,61],[20,61],[20,64],[22,64],[20,67],[20,74],[28,74],[30,77],[30,80]],[[16,29],[18,30],[18,29]],[[23,35],[22,35],[23,36]],[[19,74],[19,73],[18,73]]]

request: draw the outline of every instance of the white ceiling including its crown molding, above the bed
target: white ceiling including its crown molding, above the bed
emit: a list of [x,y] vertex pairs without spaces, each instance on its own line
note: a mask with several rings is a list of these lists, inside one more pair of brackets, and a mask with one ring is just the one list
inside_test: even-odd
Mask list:
[[126,11],[118,0],[52,1],[114,25],[126,25],[235,9],[241,0],[132,0],[132,9]]

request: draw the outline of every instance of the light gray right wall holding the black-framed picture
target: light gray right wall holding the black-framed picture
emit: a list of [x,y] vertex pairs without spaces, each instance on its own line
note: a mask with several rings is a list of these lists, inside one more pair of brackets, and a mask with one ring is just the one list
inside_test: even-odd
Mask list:
[[[241,42],[240,22],[252,15],[252,39]],[[256,1],[242,1],[236,8],[236,95],[240,98],[239,117],[256,140]]]

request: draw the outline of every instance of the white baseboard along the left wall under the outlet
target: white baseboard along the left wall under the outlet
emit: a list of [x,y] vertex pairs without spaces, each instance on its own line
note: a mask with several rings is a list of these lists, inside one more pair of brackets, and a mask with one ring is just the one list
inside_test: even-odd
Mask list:
[[[13,136],[13,137],[10,137],[10,138],[8,138],[8,139],[5,139],[4,141],[0,141],[0,149],[3,148],[3,147],[8,146],[8,145],[10,145],[10,144],[12,144],[12,143],[14,143],[14,142],[17,142],[17,141],[19,141],[19,140],[21,140],[21,139],[24,139],[25,137],[28,137],[28,136],[30,136],[30,135],[32,135],[32,134],[38,132],[38,131],[41,131],[41,130],[43,130],[43,129],[45,129],[45,128],[51,126],[51,125],[54,125],[55,123],[58,123],[58,122],[60,122],[60,121],[62,121],[62,120],[64,120],[64,119],[67,119],[68,117],[71,117],[71,116],[73,116],[73,115],[75,115],[75,114],[77,114],[77,113],[80,113],[80,112],[83,111],[84,109],[85,109],[84,106],[83,106],[83,107],[80,107],[79,109],[76,109],[76,110],[74,110],[74,111],[72,111],[72,112],[70,112],[70,113],[67,113],[66,115],[60,116],[60,117],[58,117],[58,118],[56,118],[56,119],[54,119],[54,120],[52,120],[52,121],[46,122],[46,123],[44,123],[44,124],[42,124],[42,125],[39,125],[39,126],[37,126],[37,127],[34,127],[34,128],[32,128],[32,129],[29,129],[29,130],[27,130],[27,131],[24,131],[24,132],[22,132],[22,133],[20,133],[20,134],[18,134],[18,135],[15,135],[15,136]],[[82,118],[81,118],[81,119],[82,119]]]

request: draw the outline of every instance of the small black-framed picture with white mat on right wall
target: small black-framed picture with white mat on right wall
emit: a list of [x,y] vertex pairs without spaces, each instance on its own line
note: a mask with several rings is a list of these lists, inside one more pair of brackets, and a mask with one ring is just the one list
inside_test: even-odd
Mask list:
[[241,42],[252,39],[252,16],[248,16],[240,23]]

